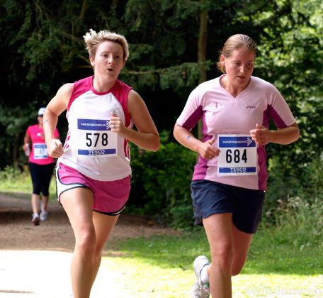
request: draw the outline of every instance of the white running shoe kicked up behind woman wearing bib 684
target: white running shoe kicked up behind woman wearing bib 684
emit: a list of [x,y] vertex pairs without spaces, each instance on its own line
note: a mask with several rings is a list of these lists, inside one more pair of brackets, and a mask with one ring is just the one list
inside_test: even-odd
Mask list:
[[209,265],[208,258],[204,255],[199,255],[193,263],[193,269],[196,274],[196,282],[192,287],[192,298],[208,298],[210,297],[210,285],[203,285],[200,280],[200,272],[203,267]]

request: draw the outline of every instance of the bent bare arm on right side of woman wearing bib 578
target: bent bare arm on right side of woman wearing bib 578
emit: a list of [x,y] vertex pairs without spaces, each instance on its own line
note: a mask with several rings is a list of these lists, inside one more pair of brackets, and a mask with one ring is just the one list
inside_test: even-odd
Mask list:
[[126,128],[118,115],[110,119],[111,131],[115,131],[130,142],[145,150],[157,151],[159,149],[159,134],[150,116],[145,101],[134,90],[128,95],[128,111],[137,131]]

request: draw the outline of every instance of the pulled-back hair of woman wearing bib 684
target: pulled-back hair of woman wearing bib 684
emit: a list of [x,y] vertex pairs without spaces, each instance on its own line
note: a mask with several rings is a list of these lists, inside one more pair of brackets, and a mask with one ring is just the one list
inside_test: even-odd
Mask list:
[[222,50],[220,51],[219,55],[219,62],[217,62],[217,68],[225,73],[225,66],[221,65],[221,55],[224,55],[225,57],[230,57],[232,55],[232,52],[234,50],[238,50],[239,48],[246,48],[247,50],[254,51],[254,56],[256,57],[256,43],[252,38],[250,38],[248,35],[244,34],[235,34],[230,36],[227,41],[225,42],[225,45],[223,45]]

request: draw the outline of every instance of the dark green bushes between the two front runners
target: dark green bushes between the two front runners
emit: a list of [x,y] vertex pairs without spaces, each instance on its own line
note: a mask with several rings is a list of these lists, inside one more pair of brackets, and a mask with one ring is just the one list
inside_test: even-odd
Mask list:
[[185,228],[193,223],[191,179],[196,153],[161,133],[157,153],[131,151],[132,192],[130,211],[153,216],[160,224]]

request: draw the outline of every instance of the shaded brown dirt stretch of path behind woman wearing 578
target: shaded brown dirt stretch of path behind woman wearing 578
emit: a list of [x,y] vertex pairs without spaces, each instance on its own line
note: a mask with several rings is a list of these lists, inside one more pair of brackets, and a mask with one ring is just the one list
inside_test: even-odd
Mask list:
[[[49,213],[47,221],[33,226],[28,199],[0,194],[0,249],[72,251],[74,235],[64,209],[57,202],[50,202]],[[125,238],[175,233],[142,216],[121,214],[108,247],[113,248],[113,244]]]

